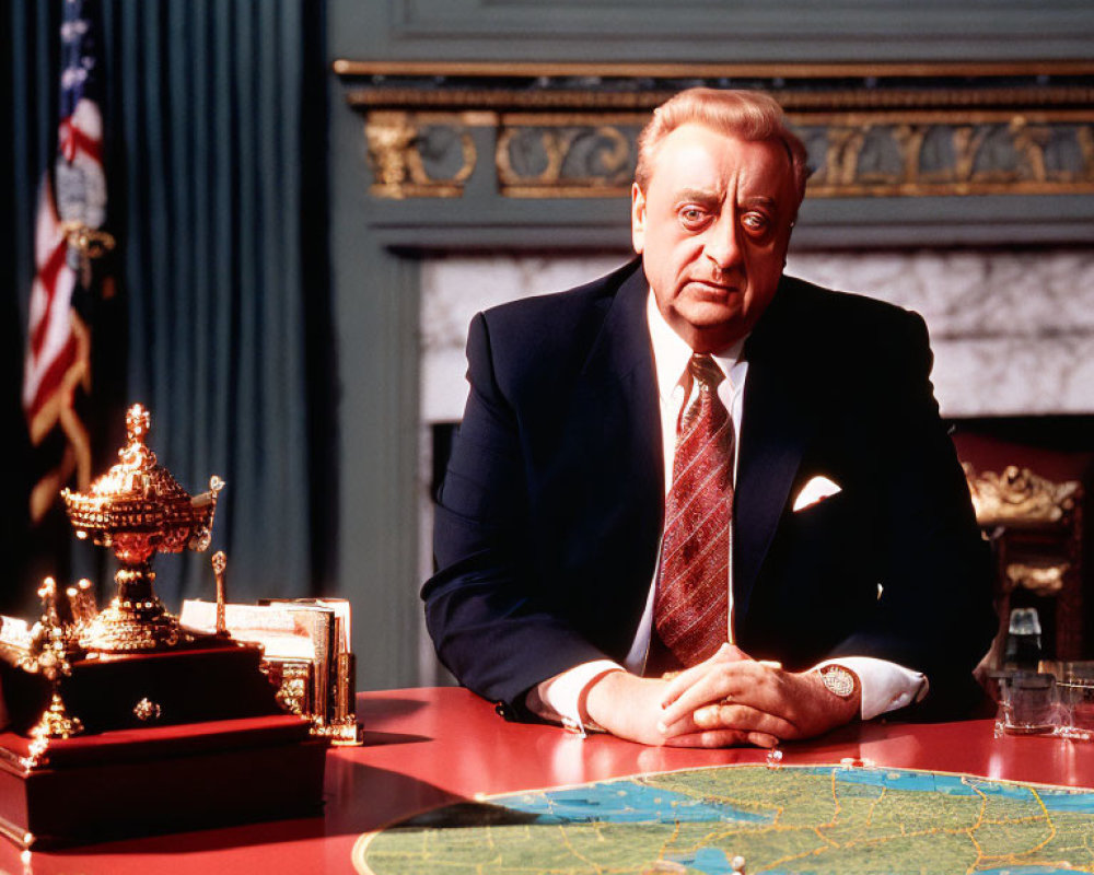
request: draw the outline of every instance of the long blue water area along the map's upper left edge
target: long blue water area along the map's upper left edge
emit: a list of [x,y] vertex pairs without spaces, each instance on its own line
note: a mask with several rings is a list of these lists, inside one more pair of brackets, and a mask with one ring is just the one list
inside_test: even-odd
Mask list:
[[[572,824],[592,820],[612,824],[701,824],[735,820],[769,824],[771,812],[746,812],[732,805],[705,802],[671,790],[627,783],[555,790],[549,794],[507,796],[507,808],[538,815],[540,824]],[[729,872],[730,870],[726,870]]]

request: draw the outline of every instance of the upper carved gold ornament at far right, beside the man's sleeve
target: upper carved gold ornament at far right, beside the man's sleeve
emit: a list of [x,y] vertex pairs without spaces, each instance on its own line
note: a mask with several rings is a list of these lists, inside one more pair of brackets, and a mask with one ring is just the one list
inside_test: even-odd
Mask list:
[[1069,516],[1079,499],[1080,483],[1057,483],[1009,465],[1001,474],[973,470],[965,463],[973,506],[981,526],[1013,523],[1052,524]]

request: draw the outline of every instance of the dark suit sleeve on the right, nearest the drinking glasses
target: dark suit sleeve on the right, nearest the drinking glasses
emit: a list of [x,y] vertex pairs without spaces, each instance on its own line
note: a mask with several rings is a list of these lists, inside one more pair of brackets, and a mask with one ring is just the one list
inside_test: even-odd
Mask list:
[[923,672],[924,711],[958,708],[975,696],[971,669],[997,628],[991,560],[930,382],[927,327],[915,314],[878,362],[894,374],[876,392],[863,436],[885,447],[873,509],[881,596],[870,619],[833,655],[871,655]]

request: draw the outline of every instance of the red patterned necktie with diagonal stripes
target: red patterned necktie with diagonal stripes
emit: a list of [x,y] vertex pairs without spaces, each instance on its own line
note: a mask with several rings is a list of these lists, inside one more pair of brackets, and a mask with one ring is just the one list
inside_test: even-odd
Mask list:
[[688,370],[699,392],[677,431],[653,603],[656,633],[684,666],[729,638],[733,516],[733,423],[718,397],[725,375],[710,355],[694,354]]

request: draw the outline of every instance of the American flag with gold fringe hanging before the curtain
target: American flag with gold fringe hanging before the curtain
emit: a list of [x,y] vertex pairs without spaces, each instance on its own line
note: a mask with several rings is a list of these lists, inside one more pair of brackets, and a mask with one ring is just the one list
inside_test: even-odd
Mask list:
[[86,489],[91,479],[91,442],[78,412],[78,397],[91,388],[91,332],[74,304],[92,283],[91,259],[114,243],[100,231],[106,218],[106,177],[103,117],[95,100],[93,3],[65,0],[57,159],[53,178],[48,172],[43,175],[38,197],[23,368],[23,410],[31,444],[42,451],[36,452],[32,523],[46,515],[73,474],[79,489]]

